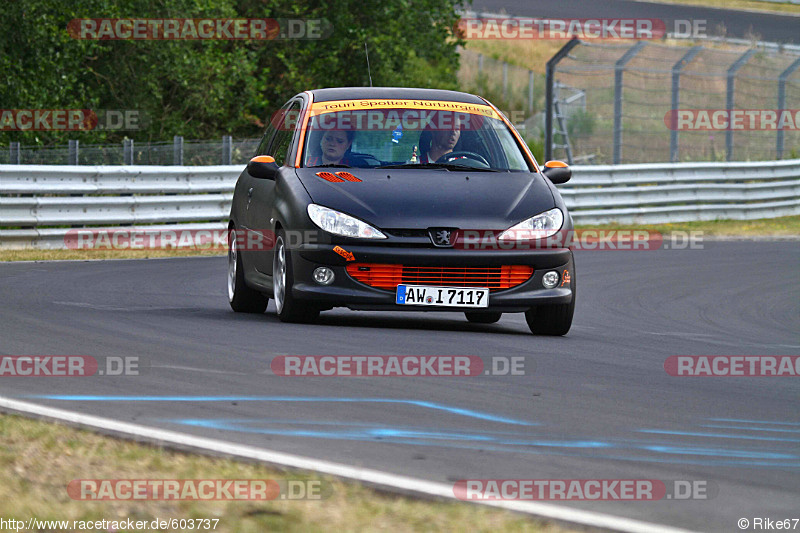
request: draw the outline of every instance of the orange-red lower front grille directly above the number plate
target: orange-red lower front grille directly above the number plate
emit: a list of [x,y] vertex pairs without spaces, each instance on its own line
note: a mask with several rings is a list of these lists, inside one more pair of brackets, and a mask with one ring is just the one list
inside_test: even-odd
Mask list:
[[492,291],[510,289],[525,283],[533,268],[525,265],[498,267],[426,267],[351,263],[350,277],[370,287],[394,290],[400,284],[444,287],[488,287]]

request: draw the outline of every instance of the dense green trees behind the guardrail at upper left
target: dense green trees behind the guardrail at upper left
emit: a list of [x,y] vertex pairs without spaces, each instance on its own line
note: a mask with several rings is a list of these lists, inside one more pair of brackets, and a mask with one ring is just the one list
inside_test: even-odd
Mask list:
[[[12,1],[0,17],[0,108],[139,110],[134,132],[2,132],[0,145],[257,137],[297,92],[369,84],[455,88],[460,0]],[[327,19],[320,40],[111,41],[70,37],[79,18]]]

